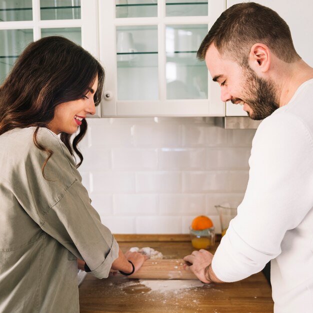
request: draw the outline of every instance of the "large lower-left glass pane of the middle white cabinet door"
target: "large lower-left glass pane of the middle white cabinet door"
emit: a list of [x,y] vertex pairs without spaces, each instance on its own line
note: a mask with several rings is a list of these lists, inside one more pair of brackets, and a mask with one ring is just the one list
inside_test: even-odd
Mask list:
[[157,26],[117,26],[117,99],[158,98]]

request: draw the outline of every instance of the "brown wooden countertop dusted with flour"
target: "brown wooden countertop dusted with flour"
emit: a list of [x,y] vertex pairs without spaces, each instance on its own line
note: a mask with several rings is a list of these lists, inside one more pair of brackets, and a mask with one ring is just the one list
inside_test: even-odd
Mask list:
[[[214,253],[217,245],[218,242],[209,250]],[[182,258],[194,250],[190,241],[119,241],[119,246],[124,252],[132,246],[150,246],[166,258]],[[180,282],[184,284],[186,280]],[[237,282],[179,287],[166,292],[153,291],[138,279],[126,276],[97,279],[87,274],[79,286],[79,304],[81,313],[273,312],[271,288],[262,272]]]

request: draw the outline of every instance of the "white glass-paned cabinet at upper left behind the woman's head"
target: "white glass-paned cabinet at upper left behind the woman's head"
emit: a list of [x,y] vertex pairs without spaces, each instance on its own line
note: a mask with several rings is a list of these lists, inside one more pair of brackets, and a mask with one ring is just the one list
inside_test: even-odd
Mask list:
[[0,0],[0,83],[25,46],[44,36],[67,37],[98,57],[96,13],[97,0]]

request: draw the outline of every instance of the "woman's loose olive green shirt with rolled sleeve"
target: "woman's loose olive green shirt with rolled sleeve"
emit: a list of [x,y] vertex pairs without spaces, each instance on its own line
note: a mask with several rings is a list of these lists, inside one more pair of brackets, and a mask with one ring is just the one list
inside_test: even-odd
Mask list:
[[77,262],[108,276],[118,244],[90,204],[56,134],[35,127],[0,135],[0,312],[79,312]]

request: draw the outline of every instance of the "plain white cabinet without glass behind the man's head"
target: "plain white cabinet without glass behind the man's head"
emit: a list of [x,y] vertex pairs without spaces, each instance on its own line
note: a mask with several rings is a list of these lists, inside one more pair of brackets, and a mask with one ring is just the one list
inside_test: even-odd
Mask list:
[[[227,8],[242,1],[226,0]],[[252,1],[244,1],[252,2]],[[293,44],[302,59],[313,66],[313,1],[312,0],[253,0],[275,10],[289,25]],[[226,102],[226,116],[245,116],[241,105]]]

